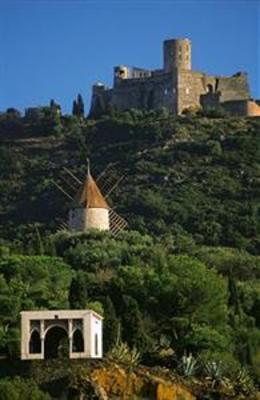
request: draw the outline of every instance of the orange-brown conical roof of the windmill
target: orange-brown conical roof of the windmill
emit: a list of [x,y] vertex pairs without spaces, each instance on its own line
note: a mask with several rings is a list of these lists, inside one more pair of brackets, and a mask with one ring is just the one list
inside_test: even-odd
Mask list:
[[78,200],[81,205],[87,208],[109,208],[109,205],[90,173],[87,174]]

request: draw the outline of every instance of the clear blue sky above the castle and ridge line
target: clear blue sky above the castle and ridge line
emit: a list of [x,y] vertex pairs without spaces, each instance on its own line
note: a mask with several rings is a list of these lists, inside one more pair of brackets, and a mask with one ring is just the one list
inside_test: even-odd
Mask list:
[[166,38],[192,40],[193,69],[247,71],[260,98],[259,0],[0,0],[0,110],[46,105],[71,112],[117,64],[162,66]]

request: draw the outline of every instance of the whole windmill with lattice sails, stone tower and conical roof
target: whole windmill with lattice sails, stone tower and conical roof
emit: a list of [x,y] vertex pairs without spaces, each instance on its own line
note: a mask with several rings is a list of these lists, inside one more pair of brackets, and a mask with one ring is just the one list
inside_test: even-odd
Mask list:
[[107,201],[108,196],[118,187],[124,176],[118,177],[114,170],[115,164],[109,164],[96,180],[90,172],[90,162],[87,160],[87,174],[77,177],[64,167],[65,176],[61,179],[66,189],[54,181],[55,186],[71,200],[68,222],[63,222],[61,229],[86,231],[98,229],[110,231],[117,236],[128,223],[113,210]]

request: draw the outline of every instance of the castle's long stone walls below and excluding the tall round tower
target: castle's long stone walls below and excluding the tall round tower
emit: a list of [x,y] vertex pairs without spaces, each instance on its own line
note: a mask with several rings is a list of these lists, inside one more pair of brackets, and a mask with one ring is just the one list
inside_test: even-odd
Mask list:
[[[174,114],[181,114],[187,108],[214,106],[213,99],[222,104],[249,98],[246,74],[219,77],[175,69],[170,73],[153,74],[148,78],[122,79],[113,89],[107,89],[105,86],[93,87],[90,115],[105,113],[109,107],[121,111],[131,108],[150,110],[165,107]],[[243,111],[243,115],[258,115],[258,106],[253,103],[248,105],[248,111]],[[243,108],[242,105],[237,107],[239,110]],[[236,106],[230,105],[230,110],[232,109],[236,109]],[[242,115],[242,111],[236,113]]]

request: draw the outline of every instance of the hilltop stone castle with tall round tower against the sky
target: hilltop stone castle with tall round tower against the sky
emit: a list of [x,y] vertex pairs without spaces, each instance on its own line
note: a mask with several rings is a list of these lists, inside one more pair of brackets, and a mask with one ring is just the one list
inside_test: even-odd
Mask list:
[[260,116],[260,102],[250,98],[247,74],[210,76],[193,71],[191,41],[170,39],[163,43],[163,68],[148,70],[114,67],[113,88],[93,86],[90,115],[131,108],[166,108],[175,115],[184,110],[222,106],[232,115]]

